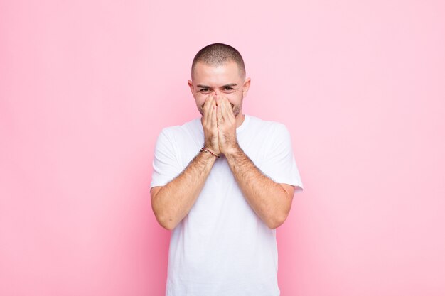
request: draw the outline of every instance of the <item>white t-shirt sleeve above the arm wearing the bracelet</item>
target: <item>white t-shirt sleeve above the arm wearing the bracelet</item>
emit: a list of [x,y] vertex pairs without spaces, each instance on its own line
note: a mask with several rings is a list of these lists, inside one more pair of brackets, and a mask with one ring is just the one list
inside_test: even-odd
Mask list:
[[173,180],[182,171],[176,157],[172,141],[164,128],[156,140],[153,158],[153,173],[151,174],[151,187],[163,186]]

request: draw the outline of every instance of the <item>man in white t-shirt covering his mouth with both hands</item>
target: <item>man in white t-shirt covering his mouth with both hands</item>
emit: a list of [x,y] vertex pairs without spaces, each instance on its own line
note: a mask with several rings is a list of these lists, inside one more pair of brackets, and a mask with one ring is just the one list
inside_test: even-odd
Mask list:
[[286,126],[242,114],[240,53],[201,49],[188,81],[202,117],[163,128],[151,205],[172,230],[167,296],[277,296],[275,229],[303,190]]

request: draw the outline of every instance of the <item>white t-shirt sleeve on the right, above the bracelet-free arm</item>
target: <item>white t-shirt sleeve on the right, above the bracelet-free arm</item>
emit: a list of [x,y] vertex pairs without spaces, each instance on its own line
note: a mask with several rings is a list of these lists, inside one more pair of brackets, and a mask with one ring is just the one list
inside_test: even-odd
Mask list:
[[291,135],[284,124],[277,124],[270,136],[271,145],[262,162],[262,172],[274,182],[295,186],[295,192],[304,190],[292,150]]

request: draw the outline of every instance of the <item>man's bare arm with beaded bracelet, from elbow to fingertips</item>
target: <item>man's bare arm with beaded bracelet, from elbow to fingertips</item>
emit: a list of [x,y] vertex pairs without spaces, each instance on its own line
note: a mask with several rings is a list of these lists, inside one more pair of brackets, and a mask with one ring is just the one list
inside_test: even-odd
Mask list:
[[[219,154],[216,103],[213,95],[205,100],[203,113],[201,123],[204,130],[204,146]],[[150,190],[151,207],[161,226],[172,230],[190,212],[203,190],[215,159],[210,153],[200,152],[181,174],[166,185],[153,187]]]

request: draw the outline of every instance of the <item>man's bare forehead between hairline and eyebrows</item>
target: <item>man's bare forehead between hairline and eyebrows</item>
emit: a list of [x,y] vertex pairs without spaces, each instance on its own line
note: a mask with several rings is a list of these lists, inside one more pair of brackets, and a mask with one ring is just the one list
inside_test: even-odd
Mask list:
[[240,69],[236,62],[227,62],[224,65],[212,66],[204,62],[197,62],[192,80],[196,84],[228,84],[241,80]]

